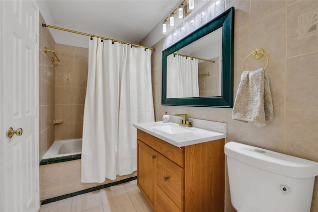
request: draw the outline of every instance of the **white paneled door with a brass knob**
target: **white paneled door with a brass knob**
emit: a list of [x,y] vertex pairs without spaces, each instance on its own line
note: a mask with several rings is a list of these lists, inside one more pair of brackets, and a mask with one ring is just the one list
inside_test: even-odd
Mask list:
[[[36,212],[39,10],[31,0],[0,0],[0,9],[0,211]],[[8,138],[10,127],[22,135]]]

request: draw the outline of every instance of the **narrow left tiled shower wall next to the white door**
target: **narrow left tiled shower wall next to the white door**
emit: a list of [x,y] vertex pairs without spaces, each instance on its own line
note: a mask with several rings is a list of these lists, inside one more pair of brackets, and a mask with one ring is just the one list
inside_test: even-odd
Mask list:
[[45,53],[44,47],[53,50],[55,41],[40,14],[39,26],[39,158],[45,154],[54,141],[54,112],[55,112],[55,64],[50,61],[53,54]]

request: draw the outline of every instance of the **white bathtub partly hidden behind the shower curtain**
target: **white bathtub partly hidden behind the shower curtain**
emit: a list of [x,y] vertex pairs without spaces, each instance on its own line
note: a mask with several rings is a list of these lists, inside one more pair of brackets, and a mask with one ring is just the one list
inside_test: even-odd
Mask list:
[[42,159],[81,154],[81,139],[54,141]]

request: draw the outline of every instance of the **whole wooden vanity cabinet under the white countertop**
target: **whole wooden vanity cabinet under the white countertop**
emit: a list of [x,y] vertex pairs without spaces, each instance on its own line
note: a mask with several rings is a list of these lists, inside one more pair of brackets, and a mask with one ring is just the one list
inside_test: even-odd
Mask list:
[[153,210],[223,212],[224,144],[179,148],[137,129],[137,185]]

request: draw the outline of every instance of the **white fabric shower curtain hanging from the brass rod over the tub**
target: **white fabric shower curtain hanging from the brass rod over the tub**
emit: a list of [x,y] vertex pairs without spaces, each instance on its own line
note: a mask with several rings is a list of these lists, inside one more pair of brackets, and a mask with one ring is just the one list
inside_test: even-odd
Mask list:
[[154,120],[151,50],[89,40],[81,182],[102,183],[136,171],[132,124]]

